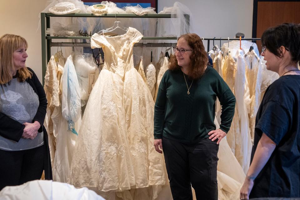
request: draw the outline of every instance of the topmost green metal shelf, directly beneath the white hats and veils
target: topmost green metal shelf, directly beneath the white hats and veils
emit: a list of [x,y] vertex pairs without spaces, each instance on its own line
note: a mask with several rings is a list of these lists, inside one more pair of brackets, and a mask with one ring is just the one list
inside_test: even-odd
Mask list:
[[[171,14],[146,14],[146,15],[136,15],[136,14],[104,14],[102,16],[96,16],[90,13],[72,13],[65,15],[56,15],[52,13],[45,13],[46,17],[128,17],[128,18],[171,18]],[[172,15],[176,17],[176,15]]]

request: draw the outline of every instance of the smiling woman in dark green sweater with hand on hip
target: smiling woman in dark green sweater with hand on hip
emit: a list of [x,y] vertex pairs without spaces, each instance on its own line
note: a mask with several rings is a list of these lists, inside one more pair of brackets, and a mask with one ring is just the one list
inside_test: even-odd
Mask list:
[[[173,199],[217,199],[218,144],[228,132],[235,98],[216,70],[207,66],[201,38],[178,38],[169,69],[158,88],[154,108],[154,147],[164,153]],[[214,124],[220,100],[220,129]]]

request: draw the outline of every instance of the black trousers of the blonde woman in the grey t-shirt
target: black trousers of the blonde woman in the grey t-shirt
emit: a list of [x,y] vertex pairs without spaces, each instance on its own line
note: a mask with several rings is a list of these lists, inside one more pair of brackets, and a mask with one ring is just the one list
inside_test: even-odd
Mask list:
[[0,190],[40,179],[44,169],[44,145],[22,151],[0,149]]

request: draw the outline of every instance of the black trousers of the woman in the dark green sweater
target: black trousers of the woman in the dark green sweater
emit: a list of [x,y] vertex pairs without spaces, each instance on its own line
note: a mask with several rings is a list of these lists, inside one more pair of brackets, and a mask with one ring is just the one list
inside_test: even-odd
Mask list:
[[217,140],[206,138],[196,144],[184,144],[163,137],[171,192],[174,200],[192,200],[192,187],[197,200],[217,200]]

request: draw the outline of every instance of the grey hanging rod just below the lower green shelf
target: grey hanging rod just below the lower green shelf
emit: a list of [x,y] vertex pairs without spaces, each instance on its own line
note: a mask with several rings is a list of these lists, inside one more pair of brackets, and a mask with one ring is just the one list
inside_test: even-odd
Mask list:
[[[176,47],[177,43],[135,43],[134,47]],[[51,42],[51,47],[91,47],[90,43],[87,42]]]

